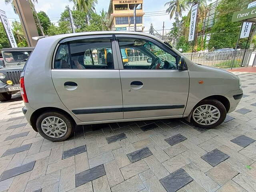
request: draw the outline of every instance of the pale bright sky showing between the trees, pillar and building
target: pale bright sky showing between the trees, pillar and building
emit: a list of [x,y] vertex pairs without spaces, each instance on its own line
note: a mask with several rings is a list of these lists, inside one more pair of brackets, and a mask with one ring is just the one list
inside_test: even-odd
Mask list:
[[[170,20],[169,15],[164,15],[167,7],[164,4],[168,0],[144,0],[143,10],[146,13],[144,16],[144,31],[148,31],[150,27],[150,23],[153,24],[154,29],[158,31],[158,33],[162,34],[162,26],[163,22],[165,25],[165,32],[168,32],[171,27],[174,19]],[[61,12],[64,11],[65,6],[69,6],[73,8],[73,3],[69,2],[69,0],[38,0],[38,3],[35,4],[36,11],[44,11],[49,16],[51,22],[57,24],[58,19],[60,18]],[[96,12],[100,13],[102,9],[108,11],[109,0],[98,0],[98,4],[96,4]],[[13,8],[10,4],[6,5],[4,0],[0,0],[0,9],[6,12],[7,17],[9,18],[10,23],[14,20],[19,21],[19,17],[14,13]],[[152,16],[156,11],[160,12],[161,16]],[[150,12],[150,13],[149,13]],[[185,12],[184,14],[186,14]],[[158,14],[159,15],[159,14]]]

